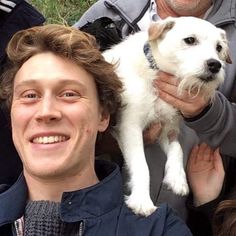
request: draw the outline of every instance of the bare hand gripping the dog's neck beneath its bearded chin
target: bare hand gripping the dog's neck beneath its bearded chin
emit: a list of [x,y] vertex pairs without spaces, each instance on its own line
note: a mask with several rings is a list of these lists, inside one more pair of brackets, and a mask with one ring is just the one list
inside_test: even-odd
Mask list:
[[206,101],[201,93],[194,95],[184,91],[178,94],[178,84],[179,81],[174,76],[161,71],[158,73],[158,79],[154,81],[161,99],[180,110],[185,118],[197,116],[210,101]]

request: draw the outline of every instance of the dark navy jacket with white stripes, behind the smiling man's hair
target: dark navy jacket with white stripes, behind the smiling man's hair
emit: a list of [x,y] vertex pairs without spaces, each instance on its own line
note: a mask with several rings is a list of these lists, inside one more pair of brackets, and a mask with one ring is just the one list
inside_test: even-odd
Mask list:
[[[0,74],[6,63],[6,46],[17,31],[41,25],[45,21],[41,13],[23,0],[14,0],[16,5],[10,13],[0,9]],[[1,3],[3,4],[3,3]],[[22,171],[21,161],[11,138],[9,114],[0,106],[0,184],[12,184]]]

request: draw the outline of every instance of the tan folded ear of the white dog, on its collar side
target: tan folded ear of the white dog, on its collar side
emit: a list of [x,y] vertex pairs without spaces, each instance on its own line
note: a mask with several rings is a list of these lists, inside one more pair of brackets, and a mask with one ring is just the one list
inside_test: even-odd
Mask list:
[[164,32],[173,28],[174,21],[152,23],[148,29],[149,41],[159,38]]

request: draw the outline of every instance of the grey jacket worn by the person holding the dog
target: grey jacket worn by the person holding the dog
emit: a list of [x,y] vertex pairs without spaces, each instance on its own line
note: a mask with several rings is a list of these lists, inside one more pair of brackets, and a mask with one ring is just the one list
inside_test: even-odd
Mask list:
[[[81,17],[75,27],[106,16],[121,22],[122,35],[139,31],[137,22],[149,8],[150,0],[99,0]],[[220,146],[221,153],[236,157],[236,0],[215,0],[207,20],[226,30],[230,42],[233,64],[227,65],[224,84],[219,88],[214,102],[201,116],[184,120],[181,124],[180,143],[184,159],[194,144],[207,142],[212,147]],[[200,140],[199,140],[200,138]],[[158,144],[145,148],[151,174],[151,197],[155,204],[168,202],[181,217],[186,218],[185,198],[174,195],[162,185],[166,157]]]

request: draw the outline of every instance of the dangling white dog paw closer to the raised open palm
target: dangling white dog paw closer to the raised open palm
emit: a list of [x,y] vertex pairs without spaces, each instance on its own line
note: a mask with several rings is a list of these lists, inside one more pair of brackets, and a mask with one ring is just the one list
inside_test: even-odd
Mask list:
[[189,187],[184,170],[178,173],[169,170],[164,177],[163,183],[175,194],[185,196],[189,193]]

